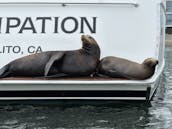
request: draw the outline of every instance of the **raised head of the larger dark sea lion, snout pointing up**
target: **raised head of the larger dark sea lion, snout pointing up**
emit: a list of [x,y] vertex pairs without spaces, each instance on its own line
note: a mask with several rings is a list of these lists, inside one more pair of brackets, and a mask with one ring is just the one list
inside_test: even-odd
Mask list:
[[93,37],[90,35],[82,35],[81,40],[82,49],[84,49],[87,53],[100,57],[100,48],[97,44],[97,41]]

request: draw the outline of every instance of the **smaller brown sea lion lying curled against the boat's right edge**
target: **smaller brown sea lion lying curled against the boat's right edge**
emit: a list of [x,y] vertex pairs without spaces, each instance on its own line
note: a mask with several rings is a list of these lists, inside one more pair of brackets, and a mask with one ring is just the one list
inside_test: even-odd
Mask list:
[[100,61],[96,75],[144,80],[154,74],[157,64],[158,60],[154,58],[147,58],[139,64],[127,59],[108,56]]

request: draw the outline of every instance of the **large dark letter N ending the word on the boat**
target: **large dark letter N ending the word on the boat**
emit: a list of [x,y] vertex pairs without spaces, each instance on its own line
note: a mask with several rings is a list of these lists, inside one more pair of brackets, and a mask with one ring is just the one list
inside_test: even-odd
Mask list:
[[81,32],[80,33],[84,33],[85,24],[87,25],[91,33],[96,33],[96,19],[97,17],[93,17],[93,23],[91,26],[86,17],[81,17]]

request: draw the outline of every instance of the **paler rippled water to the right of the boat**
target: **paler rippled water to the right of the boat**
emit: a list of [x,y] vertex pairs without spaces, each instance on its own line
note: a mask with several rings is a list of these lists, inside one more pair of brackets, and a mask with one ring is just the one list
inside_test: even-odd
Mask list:
[[148,125],[153,129],[172,128],[172,47],[166,48],[166,67],[161,87],[151,102]]

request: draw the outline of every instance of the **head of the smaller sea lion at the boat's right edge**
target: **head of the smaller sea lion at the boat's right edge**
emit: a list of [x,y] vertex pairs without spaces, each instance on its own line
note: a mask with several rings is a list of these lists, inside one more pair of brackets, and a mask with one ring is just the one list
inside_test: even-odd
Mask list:
[[156,65],[158,64],[158,60],[155,58],[147,58],[143,61],[144,65],[146,65],[149,68],[154,68],[156,67]]

